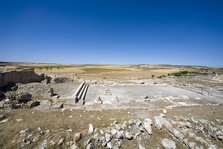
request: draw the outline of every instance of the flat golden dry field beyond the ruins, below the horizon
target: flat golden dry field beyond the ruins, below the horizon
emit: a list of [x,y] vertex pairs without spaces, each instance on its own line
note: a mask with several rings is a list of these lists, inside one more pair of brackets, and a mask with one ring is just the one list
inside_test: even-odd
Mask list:
[[7,69],[14,67],[34,68],[38,73],[45,74],[78,74],[83,78],[99,79],[147,79],[168,76],[181,71],[196,73],[222,73],[220,68],[173,66],[173,65],[62,65],[62,64],[32,64],[13,63],[6,65]]

